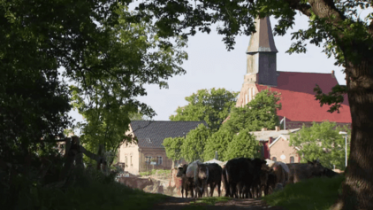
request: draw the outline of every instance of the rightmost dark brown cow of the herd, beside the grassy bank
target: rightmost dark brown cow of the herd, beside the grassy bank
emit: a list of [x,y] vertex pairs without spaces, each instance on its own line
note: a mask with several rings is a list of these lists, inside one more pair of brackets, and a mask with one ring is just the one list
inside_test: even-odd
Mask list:
[[325,167],[318,160],[307,163],[288,163],[290,175],[288,183],[299,183],[313,177],[325,175]]

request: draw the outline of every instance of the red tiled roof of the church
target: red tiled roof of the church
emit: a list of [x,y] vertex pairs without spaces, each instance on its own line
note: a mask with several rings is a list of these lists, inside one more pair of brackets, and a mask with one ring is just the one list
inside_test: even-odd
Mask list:
[[[278,117],[286,117],[286,121],[335,121],[351,123],[350,106],[347,96],[339,113],[328,113],[330,106],[320,107],[316,101],[314,88],[320,86],[324,93],[329,93],[331,88],[338,84],[333,74],[317,73],[294,73],[278,72],[278,86],[271,87],[270,91],[281,93],[281,110],[278,110]],[[256,84],[257,89],[262,91],[268,89],[265,85]]]

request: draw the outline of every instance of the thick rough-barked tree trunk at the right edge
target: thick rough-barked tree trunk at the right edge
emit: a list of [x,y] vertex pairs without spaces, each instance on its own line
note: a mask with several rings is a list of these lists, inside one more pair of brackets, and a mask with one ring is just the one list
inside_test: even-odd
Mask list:
[[373,55],[367,54],[360,51],[358,65],[346,62],[351,150],[343,192],[332,209],[373,209]]

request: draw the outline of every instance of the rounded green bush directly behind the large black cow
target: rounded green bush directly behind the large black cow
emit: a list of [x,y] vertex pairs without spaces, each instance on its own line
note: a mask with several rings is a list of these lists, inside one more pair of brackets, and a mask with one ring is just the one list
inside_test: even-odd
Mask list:
[[245,128],[233,136],[232,141],[228,143],[228,147],[225,150],[224,160],[261,157],[261,147],[255,140],[255,136],[252,136],[249,132],[249,128]]

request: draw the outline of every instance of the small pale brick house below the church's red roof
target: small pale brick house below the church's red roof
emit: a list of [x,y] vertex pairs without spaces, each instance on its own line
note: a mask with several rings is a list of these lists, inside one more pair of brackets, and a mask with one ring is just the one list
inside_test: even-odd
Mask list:
[[297,153],[298,148],[289,146],[290,134],[297,132],[301,128],[280,129],[278,126],[275,130],[262,128],[261,131],[250,132],[262,144],[262,154],[264,159],[282,161],[285,163],[301,162],[301,157]]

